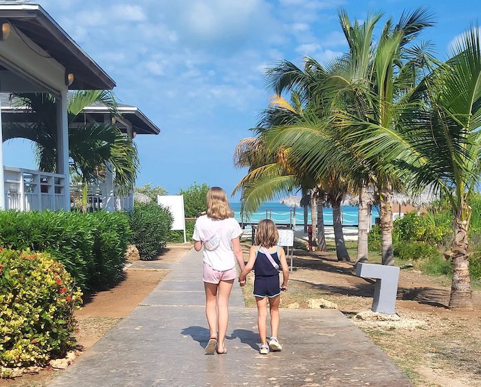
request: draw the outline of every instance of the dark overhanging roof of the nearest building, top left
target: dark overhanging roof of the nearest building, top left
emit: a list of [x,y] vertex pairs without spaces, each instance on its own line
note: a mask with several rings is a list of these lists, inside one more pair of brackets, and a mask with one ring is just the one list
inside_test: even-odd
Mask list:
[[0,18],[30,38],[52,58],[74,73],[74,90],[111,90],[115,82],[83,51],[41,5],[27,1],[0,2]]

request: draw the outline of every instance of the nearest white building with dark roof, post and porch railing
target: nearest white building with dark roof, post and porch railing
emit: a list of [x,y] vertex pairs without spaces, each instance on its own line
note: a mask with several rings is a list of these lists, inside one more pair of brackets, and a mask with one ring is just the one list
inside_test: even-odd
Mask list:
[[[0,3],[0,93],[50,93],[57,106],[56,174],[3,165],[0,147],[0,209],[5,185],[19,184],[16,198],[38,209],[70,209],[67,92],[111,90],[115,82],[41,8],[32,3]],[[1,106],[0,106],[1,117]],[[1,118],[0,143],[3,144]],[[19,202],[25,207],[25,201]]]

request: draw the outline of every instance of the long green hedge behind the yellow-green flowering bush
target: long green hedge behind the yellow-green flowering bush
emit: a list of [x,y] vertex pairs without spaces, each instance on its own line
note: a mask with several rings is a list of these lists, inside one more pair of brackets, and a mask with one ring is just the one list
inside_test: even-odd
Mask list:
[[52,254],[82,290],[120,279],[129,238],[124,213],[0,211],[0,245]]

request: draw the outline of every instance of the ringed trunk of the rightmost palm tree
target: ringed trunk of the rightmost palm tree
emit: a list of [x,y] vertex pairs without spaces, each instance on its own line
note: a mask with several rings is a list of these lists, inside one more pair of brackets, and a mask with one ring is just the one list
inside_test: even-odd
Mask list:
[[[465,207],[465,208],[462,208]],[[470,209],[467,205],[454,211],[454,242],[447,255],[453,259],[453,281],[451,283],[451,297],[449,309],[473,310],[473,294],[471,292],[471,278],[469,277],[468,253],[468,220]]]

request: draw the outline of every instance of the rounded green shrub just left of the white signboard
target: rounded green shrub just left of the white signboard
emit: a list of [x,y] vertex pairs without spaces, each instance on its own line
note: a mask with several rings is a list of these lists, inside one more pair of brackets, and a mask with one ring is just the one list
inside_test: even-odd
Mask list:
[[128,218],[132,230],[131,244],[139,250],[140,259],[155,259],[166,246],[172,215],[156,203],[135,203]]

